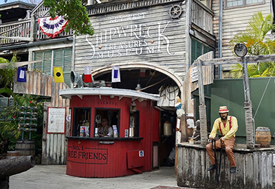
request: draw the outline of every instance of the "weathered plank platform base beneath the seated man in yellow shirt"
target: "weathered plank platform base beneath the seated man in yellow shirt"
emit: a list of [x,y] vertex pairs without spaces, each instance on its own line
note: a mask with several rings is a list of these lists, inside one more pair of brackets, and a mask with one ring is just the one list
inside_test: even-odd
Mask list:
[[[243,145],[245,146],[245,145]],[[236,173],[230,174],[230,163],[223,150],[221,155],[220,188],[274,188],[274,146],[248,150],[241,144],[234,147]],[[205,147],[177,144],[177,185],[194,188],[217,188],[215,170],[207,171],[210,159]],[[220,150],[217,150],[219,162]]]

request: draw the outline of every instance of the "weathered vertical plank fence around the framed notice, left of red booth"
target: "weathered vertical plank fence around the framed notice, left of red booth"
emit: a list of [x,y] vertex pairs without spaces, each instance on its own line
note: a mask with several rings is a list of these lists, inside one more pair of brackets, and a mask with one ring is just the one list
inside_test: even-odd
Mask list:
[[66,164],[65,135],[69,135],[69,122],[66,122],[66,134],[47,134],[47,107],[66,107],[66,115],[69,115],[69,100],[59,96],[60,89],[68,88],[65,83],[54,82],[52,76],[34,71],[26,71],[26,82],[17,82],[15,73],[14,93],[51,97],[51,102],[44,103],[42,164]]

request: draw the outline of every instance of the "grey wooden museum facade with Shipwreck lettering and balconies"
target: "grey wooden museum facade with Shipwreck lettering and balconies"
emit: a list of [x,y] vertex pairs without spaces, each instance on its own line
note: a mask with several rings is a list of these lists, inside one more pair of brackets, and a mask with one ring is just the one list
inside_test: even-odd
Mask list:
[[[161,87],[166,91],[169,87],[177,89],[168,104],[161,107],[162,112],[175,115],[175,96],[183,98],[186,71],[193,60],[215,47],[210,2],[122,0],[86,7],[94,36],[74,36],[72,31],[63,31],[56,38],[45,36],[37,21],[48,16],[42,1],[28,11],[25,19],[0,25],[0,56],[17,54],[21,61],[42,60],[30,64],[29,69],[50,76],[53,67],[63,67],[65,83],[71,87],[70,71],[83,74],[84,67],[90,66],[96,80],[110,82],[111,69],[117,65],[122,82],[112,87],[135,89],[140,84],[147,93],[160,93]],[[166,93],[161,98],[167,99]],[[64,106],[58,103],[54,107]],[[61,157],[57,150],[60,140],[63,137],[49,139],[54,153],[43,155],[48,159]],[[47,160],[44,164],[65,162]]]

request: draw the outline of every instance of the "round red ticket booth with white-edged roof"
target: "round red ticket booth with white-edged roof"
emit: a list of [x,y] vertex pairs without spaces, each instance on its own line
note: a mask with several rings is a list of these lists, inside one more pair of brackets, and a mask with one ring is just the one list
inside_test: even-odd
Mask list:
[[[157,159],[159,110],[155,94],[129,89],[76,88],[60,91],[70,99],[71,134],[67,136],[67,175],[121,177],[150,171]],[[115,135],[98,137],[107,118]]]

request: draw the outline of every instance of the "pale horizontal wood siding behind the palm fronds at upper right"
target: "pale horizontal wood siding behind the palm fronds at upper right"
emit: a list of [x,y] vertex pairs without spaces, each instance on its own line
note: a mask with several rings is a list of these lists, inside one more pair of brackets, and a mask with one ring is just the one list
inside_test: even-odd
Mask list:
[[[270,1],[267,0],[263,4],[247,5],[239,8],[224,8],[223,2],[223,23],[222,23],[222,56],[230,57],[232,49],[230,49],[229,41],[233,36],[242,30],[245,30],[248,22],[256,12],[262,12],[263,16],[270,14]],[[214,19],[213,19],[213,31],[219,41],[219,0],[213,0]],[[223,65],[224,70],[230,69],[230,65]]]

